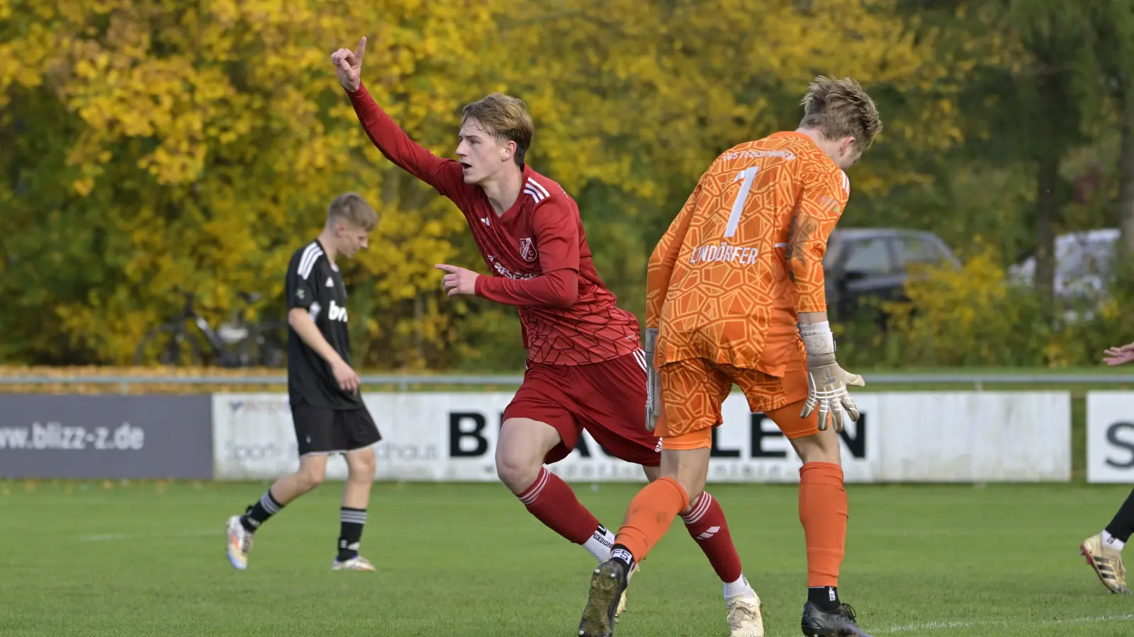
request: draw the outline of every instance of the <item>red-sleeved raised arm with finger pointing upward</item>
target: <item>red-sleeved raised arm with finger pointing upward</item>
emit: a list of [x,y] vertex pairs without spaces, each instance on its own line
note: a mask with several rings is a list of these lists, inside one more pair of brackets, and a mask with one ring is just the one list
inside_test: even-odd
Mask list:
[[378,105],[362,84],[362,60],[365,52],[366,39],[363,37],[358,41],[356,51],[339,49],[331,53],[335,74],[350,97],[363,130],[386,159],[433,186],[442,195],[451,196],[464,185],[460,163],[441,159],[422,147]]

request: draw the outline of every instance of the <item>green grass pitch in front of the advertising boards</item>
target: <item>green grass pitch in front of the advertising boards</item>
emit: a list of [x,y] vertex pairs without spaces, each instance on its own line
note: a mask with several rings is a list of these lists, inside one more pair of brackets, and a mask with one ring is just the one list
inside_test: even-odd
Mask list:
[[[636,485],[575,485],[617,526]],[[225,519],[265,484],[0,482],[0,635],[570,636],[594,562],[502,486],[374,485],[363,552],[331,572],[340,483],[257,534],[249,569]],[[769,636],[799,635],[795,486],[710,485]],[[877,636],[1134,635],[1134,597],[1077,554],[1128,487],[850,485],[840,593]],[[678,521],[643,563],[620,637],[727,636],[720,583]]]

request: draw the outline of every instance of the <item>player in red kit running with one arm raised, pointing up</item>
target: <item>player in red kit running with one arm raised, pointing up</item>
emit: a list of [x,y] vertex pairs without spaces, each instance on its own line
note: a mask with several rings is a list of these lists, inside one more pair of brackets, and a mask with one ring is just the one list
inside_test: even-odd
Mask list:
[[[363,37],[357,51],[339,49],[331,62],[366,135],[388,160],[456,204],[489,270],[438,264],[442,287],[449,296],[514,305],[519,314],[527,370],[503,413],[497,474],[540,521],[606,561],[615,535],[544,465],[570,453],[586,430],[613,456],[641,465],[649,479],[659,475],[659,439],[645,428],[637,318],[616,305],[595,272],[575,201],[525,163],[533,124],[524,102],[494,93],[466,105],[457,160],[438,158],[363,86],[365,48]],[[720,504],[704,493],[682,515],[723,583],[731,635],[762,636],[760,598],[742,572]]]

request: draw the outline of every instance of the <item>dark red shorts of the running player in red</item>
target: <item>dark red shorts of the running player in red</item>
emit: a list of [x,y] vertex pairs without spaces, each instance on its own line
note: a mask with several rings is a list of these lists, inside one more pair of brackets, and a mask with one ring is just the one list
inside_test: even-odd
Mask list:
[[503,419],[547,423],[562,441],[543,458],[548,465],[566,458],[586,430],[611,456],[657,467],[661,440],[645,431],[645,353],[586,365],[535,363],[503,410]]

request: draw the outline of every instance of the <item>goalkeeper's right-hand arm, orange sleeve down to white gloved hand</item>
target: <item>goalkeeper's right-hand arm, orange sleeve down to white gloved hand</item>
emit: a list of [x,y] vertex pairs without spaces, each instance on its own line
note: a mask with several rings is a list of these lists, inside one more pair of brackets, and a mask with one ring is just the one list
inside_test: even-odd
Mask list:
[[844,371],[835,360],[835,337],[827,320],[823,255],[827,239],[838,223],[849,196],[843,171],[811,171],[803,176],[803,194],[788,235],[788,274],[796,288],[799,336],[807,349],[807,400],[799,414],[819,411],[819,430],[828,424],[843,431],[843,409],[852,421],[858,408],[847,387],[863,387],[862,376]]

